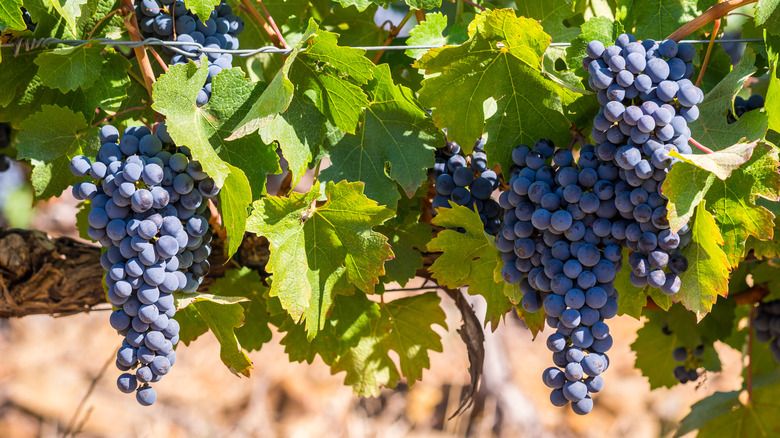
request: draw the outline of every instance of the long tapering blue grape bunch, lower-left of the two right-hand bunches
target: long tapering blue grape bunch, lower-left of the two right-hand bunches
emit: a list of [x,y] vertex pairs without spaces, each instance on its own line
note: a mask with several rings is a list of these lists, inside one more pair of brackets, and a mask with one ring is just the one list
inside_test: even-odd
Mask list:
[[544,308],[555,333],[547,339],[556,365],[543,373],[555,406],[571,402],[580,415],[603,388],[612,336],[605,320],[617,314],[613,282],[622,264],[621,221],[615,221],[618,169],[600,162],[592,145],[575,163],[547,139],[512,152],[511,190],[499,197],[503,228],[496,247],[502,276],[518,284],[528,312]]

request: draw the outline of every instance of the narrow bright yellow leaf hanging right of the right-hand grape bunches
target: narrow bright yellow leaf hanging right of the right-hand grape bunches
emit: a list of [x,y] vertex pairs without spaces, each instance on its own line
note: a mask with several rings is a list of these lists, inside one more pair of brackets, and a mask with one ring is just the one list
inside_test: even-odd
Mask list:
[[696,207],[690,232],[691,242],[682,253],[688,259],[688,270],[680,276],[682,285],[677,299],[701,320],[718,296],[728,293],[730,264],[722,249],[723,237],[706,209],[706,201]]

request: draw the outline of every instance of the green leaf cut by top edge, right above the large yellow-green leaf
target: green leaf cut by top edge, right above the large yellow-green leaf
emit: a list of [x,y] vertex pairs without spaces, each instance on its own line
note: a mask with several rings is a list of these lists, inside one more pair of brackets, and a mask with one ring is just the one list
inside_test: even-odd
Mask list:
[[[539,20],[544,32],[554,42],[568,42],[580,34],[579,23],[574,20],[575,13],[571,2],[565,0],[517,0],[515,9],[523,17]],[[568,23],[572,20],[572,23]],[[567,25],[568,24],[568,25]]]

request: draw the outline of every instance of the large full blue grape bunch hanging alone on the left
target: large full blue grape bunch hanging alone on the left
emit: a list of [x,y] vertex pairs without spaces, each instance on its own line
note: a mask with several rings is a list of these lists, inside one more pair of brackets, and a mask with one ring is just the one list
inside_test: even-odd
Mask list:
[[115,127],[104,126],[100,142],[94,162],[71,160],[74,175],[90,177],[73,186],[73,195],[89,201],[87,233],[106,248],[100,263],[116,308],[109,322],[124,336],[117,386],[148,406],[157,398],[150,384],[176,362],[173,293],[195,292],[209,269],[208,199],[219,187],[186,148],[176,148],[163,123],[156,134],[128,128],[121,140]]

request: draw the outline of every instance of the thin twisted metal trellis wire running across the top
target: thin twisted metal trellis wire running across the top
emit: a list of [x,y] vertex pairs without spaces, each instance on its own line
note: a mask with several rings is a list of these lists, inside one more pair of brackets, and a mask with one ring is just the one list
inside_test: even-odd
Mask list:
[[[709,44],[710,40],[682,40],[681,42],[685,43],[692,43],[692,44]],[[747,39],[720,39],[715,40],[716,43],[762,43],[764,42],[761,38],[747,38]],[[3,43],[0,44],[0,47],[13,47],[14,48],[14,56],[19,54],[19,50],[21,48],[24,48],[27,51],[37,49],[39,47],[46,47],[51,46],[55,44],[65,44],[68,46],[80,46],[82,44],[87,43],[98,43],[104,46],[124,46],[124,47],[140,47],[140,46],[164,46],[168,47],[171,51],[175,53],[180,53],[185,56],[194,57],[198,56],[198,54],[201,53],[229,53],[231,55],[241,56],[241,57],[247,57],[247,56],[254,56],[259,54],[281,54],[281,55],[289,55],[292,52],[292,49],[280,49],[278,47],[273,46],[266,46],[266,47],[260,47],[257,49],[214,49],[209,47],[204,47],[201,44],[198,43],[190,43],[186,41],[164,41],[158,38],[147,38],[143,41],[118,41],[118,40],[112,40],[109,38],[96,38],[93,40],[63,40],[60,38],[38,38],[38,39],[27,39],[27,38],[19,38],[16,41],[12,43]],[[567,47],[570,46],[571,43],[551,43],[550,47]],[[194,52],[190,52],[187,50],[183,50],[181,47],[188,46],[188,47],[195,47]],[[438,49],[444,46],[363,46],[363,47],[350,47],[352,49],[361,49],[366,51],[379,51],[379,50],[429,50],[429,49]]]

